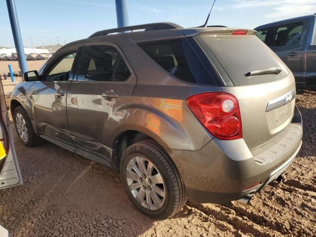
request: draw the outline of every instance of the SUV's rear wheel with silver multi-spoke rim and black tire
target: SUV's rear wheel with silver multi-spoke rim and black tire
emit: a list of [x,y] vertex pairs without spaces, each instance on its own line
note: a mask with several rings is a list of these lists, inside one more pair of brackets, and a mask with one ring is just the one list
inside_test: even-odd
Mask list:
[[129,199],[150,218],[169,218],[187,201],[175,165],[153,140],[135,143],[124,151],[120,175]]

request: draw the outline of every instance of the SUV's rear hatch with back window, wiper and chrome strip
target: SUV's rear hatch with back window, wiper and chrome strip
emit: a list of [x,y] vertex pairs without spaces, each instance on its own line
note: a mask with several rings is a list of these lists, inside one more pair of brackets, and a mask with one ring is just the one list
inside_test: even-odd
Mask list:
[[250,150],[266,143],[291,121],[295,81],[276,54],[255,36],[255,31],[214,29],[194,39],[210,59],[219,77],[230,83],[223,92],[237,97],[242,138]]

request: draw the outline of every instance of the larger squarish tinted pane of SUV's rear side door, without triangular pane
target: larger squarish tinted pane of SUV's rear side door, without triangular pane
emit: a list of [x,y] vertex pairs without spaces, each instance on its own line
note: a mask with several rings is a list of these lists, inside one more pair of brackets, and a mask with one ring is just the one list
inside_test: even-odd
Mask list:
[[117,56],[111,45],[84,46],[77,80],[112,81]]

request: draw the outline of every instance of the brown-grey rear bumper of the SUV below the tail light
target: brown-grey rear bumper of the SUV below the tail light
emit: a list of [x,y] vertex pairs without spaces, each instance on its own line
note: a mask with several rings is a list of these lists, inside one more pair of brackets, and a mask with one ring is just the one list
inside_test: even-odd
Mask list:
[[[256,161],[243,139],[221,141],[214,138],[200,151],[168,151],[184,180],[190,201],[225,203],[238,200],[274,181],[285,172],[302,145],[302,118],[297,108],[289,125],[297,128],[293,142],[266,162]],[[277,141],[284,142],[279,137],[271,143]]]

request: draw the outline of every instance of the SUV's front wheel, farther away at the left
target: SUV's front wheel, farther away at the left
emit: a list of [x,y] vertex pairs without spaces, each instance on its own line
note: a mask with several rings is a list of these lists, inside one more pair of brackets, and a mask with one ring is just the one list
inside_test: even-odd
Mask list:
[[13,113],[15,130],[21,142],[27,147],[39,145],[43,139],[34,132],[31,120],[22,106],[15,108]]

